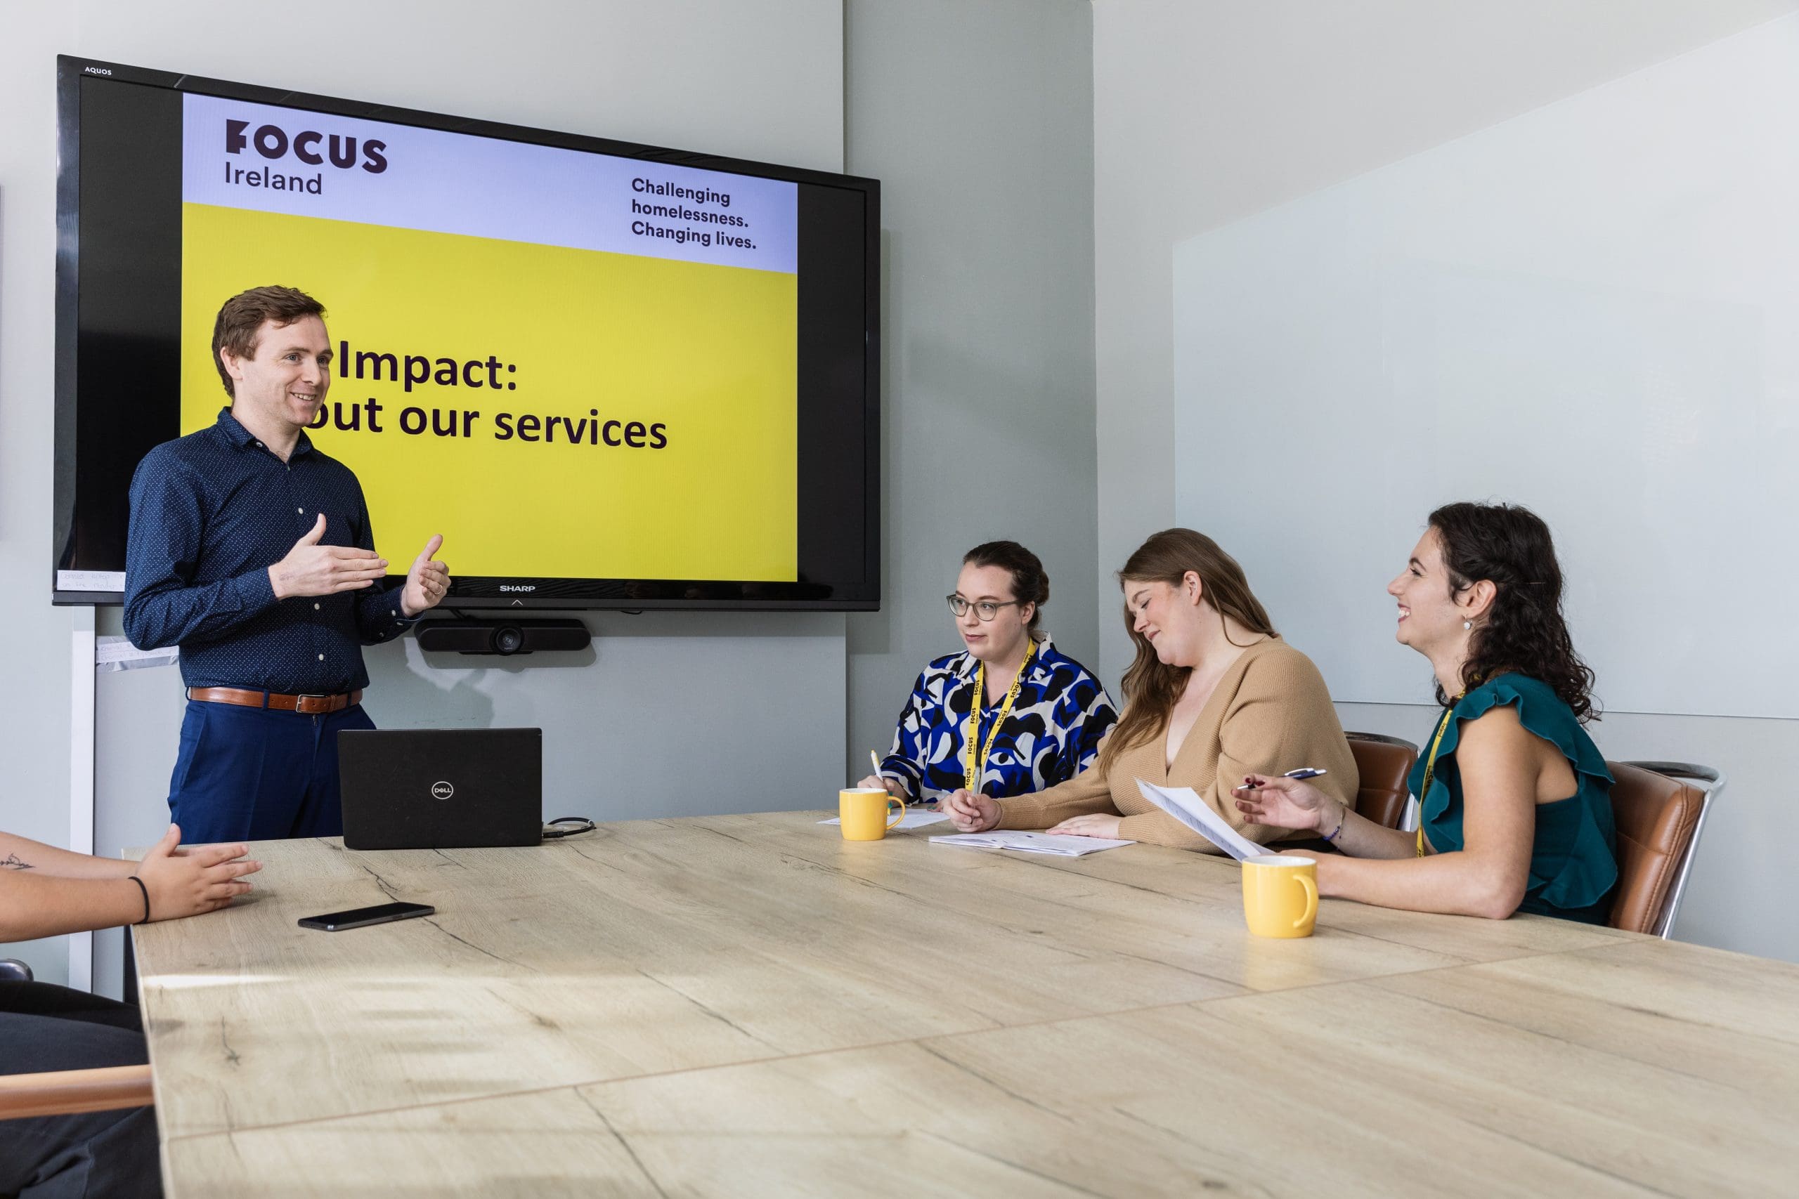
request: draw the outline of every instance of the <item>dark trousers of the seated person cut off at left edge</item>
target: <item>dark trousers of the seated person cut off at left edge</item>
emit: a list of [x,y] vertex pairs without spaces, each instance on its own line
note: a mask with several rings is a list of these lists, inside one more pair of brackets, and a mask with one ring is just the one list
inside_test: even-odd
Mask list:
[[[0,1075],[142,1066],[135,1007],[49,983],[0,981]],[[0,1195],[149,1199],[162,1194],[157,1111],[0,1120]]]

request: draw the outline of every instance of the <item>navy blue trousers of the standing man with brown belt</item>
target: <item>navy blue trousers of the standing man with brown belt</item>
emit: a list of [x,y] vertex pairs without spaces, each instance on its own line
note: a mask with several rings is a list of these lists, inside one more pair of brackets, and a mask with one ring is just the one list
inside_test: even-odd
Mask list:
[[169,778],[169,818],[182,841],[344,836],[336,735],[345,728],[374,721],[362,705],[300,715],[189,699]]

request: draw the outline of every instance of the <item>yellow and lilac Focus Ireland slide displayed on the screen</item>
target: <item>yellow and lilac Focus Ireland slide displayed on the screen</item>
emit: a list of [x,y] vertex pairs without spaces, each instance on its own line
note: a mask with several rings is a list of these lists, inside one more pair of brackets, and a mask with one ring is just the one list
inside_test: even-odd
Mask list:
[[313,444],[462,575],[799,577],[797,185],[185,95],[182,431],[218,307],[327,309]]

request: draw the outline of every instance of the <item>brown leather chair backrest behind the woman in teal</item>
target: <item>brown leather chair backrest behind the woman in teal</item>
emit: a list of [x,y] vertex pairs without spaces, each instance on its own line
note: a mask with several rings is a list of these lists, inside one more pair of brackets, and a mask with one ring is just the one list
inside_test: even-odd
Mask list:
[[1689,762],[1607,762],[1617,825],[1612,928],[1668,937],[1723,775]]

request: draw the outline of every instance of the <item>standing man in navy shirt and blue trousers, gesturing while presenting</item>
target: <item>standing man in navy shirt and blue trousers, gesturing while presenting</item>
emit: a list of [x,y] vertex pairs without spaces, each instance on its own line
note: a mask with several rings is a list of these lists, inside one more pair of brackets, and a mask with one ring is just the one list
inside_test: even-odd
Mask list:
[[443,537],[387,588],[356,476],[306,437],[331,386],[324,306],[232,297],[212,358],[232,404],[131,478],[124,631],[180,645],[187,683],[169,809],[187,841],[338,836],[336,735],[374,728],[362,647],[450,590]]

